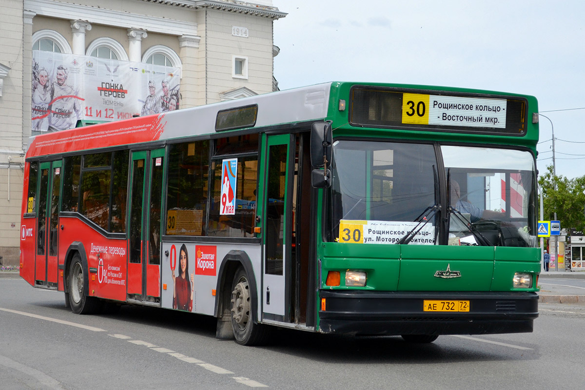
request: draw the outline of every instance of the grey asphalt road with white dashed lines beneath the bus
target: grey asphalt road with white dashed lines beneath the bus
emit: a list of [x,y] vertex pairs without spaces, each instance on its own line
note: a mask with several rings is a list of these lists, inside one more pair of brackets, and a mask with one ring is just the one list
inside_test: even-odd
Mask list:
[[541,304],[534,333],[419,345],[287,330],[242,347],[216,340],[209,317],[132,306],[79,316],[63,302],[0,278],[1,389],[583,388],[583,305]]

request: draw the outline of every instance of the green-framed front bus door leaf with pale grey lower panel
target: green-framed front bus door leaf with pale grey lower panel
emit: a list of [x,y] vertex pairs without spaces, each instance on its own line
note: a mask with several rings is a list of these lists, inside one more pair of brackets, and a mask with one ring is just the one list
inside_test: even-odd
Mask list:
[[267,136],[264,176],[264,319],[290,321],[292,245],[292,175],[294,137]]

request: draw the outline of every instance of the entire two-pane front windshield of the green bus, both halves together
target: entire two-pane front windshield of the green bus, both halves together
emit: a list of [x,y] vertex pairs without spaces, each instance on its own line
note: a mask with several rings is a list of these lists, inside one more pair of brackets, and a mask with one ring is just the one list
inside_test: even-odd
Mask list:
[[[531,153],[445,145],[440,150],[436,156],[432,144],[335,141],[333,240],[404,243],[408,232],[420,229],[407,243],[534,247]],[[449,178],[449,194],[443,197],[438,158]],[[442,215],[448,218],[448,236],[441,240],[441,213],[435,210],[445,198]],[[347,229],[356,224],[362,226],[359,237]]]

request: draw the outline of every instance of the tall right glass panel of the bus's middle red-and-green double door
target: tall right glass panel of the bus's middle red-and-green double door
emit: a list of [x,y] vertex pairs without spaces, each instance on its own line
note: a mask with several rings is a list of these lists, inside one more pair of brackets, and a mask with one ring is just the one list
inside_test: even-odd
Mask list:
[[163,190],[163,157],[152,160],[152,181],[150,185],[150,256],[149,264],[160,264],[160,201]]

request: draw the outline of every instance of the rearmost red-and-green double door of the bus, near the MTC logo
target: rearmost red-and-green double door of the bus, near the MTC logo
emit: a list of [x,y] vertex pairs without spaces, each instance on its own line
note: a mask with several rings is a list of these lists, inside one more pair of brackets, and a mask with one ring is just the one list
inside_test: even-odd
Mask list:
[[35,285],[38,287],[57,289],[60,188],[61,160],[40,164],[35,250]]

